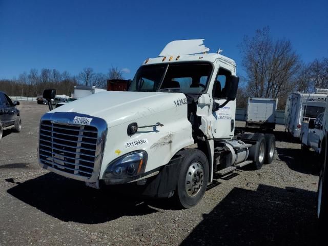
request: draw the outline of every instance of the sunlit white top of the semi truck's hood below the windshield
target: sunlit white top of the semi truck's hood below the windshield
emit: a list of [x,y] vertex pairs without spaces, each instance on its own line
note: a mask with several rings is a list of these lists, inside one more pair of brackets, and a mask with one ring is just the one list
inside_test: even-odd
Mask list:
[[[75,112],[103,118],[109,127],[179,106],[186,102],[183,93],[107,91],[72,101],[56,108],[55,112]],[[187,112],[186,112],[187,113]]]

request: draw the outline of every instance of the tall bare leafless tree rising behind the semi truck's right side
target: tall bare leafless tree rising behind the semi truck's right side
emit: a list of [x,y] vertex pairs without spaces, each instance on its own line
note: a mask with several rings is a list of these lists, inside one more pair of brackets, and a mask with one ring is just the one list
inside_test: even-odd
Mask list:
[[245,36],[239,47],[251,96],[283,98],[293,90],[300,62],[289,40],[273,40],[266,27]]

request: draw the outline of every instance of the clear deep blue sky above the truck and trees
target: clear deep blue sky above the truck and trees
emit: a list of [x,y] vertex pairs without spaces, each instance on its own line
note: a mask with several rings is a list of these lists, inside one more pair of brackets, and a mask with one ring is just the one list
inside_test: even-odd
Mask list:
[[129,79],[167,43],[194,38],[204,38],[210,52],[222,49],[240,74],[238,44],[265,26],[309,63],[328,57],[327,10],[327,0],[0,0],[0,79],[32,68],[77,75],[112,66]]

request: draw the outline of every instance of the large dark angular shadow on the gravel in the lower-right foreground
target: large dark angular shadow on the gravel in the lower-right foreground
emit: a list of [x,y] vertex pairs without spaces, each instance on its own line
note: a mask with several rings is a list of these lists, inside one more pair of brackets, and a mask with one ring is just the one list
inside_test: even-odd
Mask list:
[[180,245],[317,245],[316,192],[234,188]]

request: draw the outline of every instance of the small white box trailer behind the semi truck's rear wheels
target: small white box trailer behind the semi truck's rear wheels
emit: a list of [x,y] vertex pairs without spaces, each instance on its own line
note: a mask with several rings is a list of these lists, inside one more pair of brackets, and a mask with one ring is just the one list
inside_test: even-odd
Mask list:
[[277,98],[249,97],[247,104],[247,128],[273,131],[276,127]]

